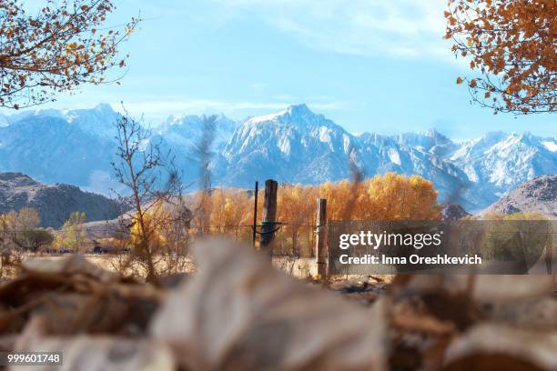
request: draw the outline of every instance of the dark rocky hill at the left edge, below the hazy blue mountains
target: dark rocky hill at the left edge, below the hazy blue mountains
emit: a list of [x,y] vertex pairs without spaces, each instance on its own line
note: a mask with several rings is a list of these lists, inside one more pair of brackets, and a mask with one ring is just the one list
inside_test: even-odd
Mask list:
[[76,186],[46,186],[21,173],[0,173],[0,214],[32,207],[40,226],[59,227],[71,213],[86,213],[87,221],[114,219],[120,205],[105,196],[84,192]]

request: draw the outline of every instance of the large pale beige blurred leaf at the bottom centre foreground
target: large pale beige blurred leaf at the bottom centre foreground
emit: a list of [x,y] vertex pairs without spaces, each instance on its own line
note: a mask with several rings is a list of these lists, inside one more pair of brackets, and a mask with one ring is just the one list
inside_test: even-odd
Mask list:
[[198,273],[168,296],[152,334],[182,366],[207,369],[386,369],[386,300],[367,310],[303,285],[248,247],[208,241]]

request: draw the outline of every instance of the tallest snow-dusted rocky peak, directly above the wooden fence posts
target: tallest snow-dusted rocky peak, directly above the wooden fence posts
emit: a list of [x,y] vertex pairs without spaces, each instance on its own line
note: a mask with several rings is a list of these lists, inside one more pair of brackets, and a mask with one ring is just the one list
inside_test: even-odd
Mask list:
[[352,145],[352,135],[342,127],[306,105],[293,105],[239,125],[213,171],[223,186],[252,186],[254,175],[315,184],[349,176],[349,156],[356,154]]

